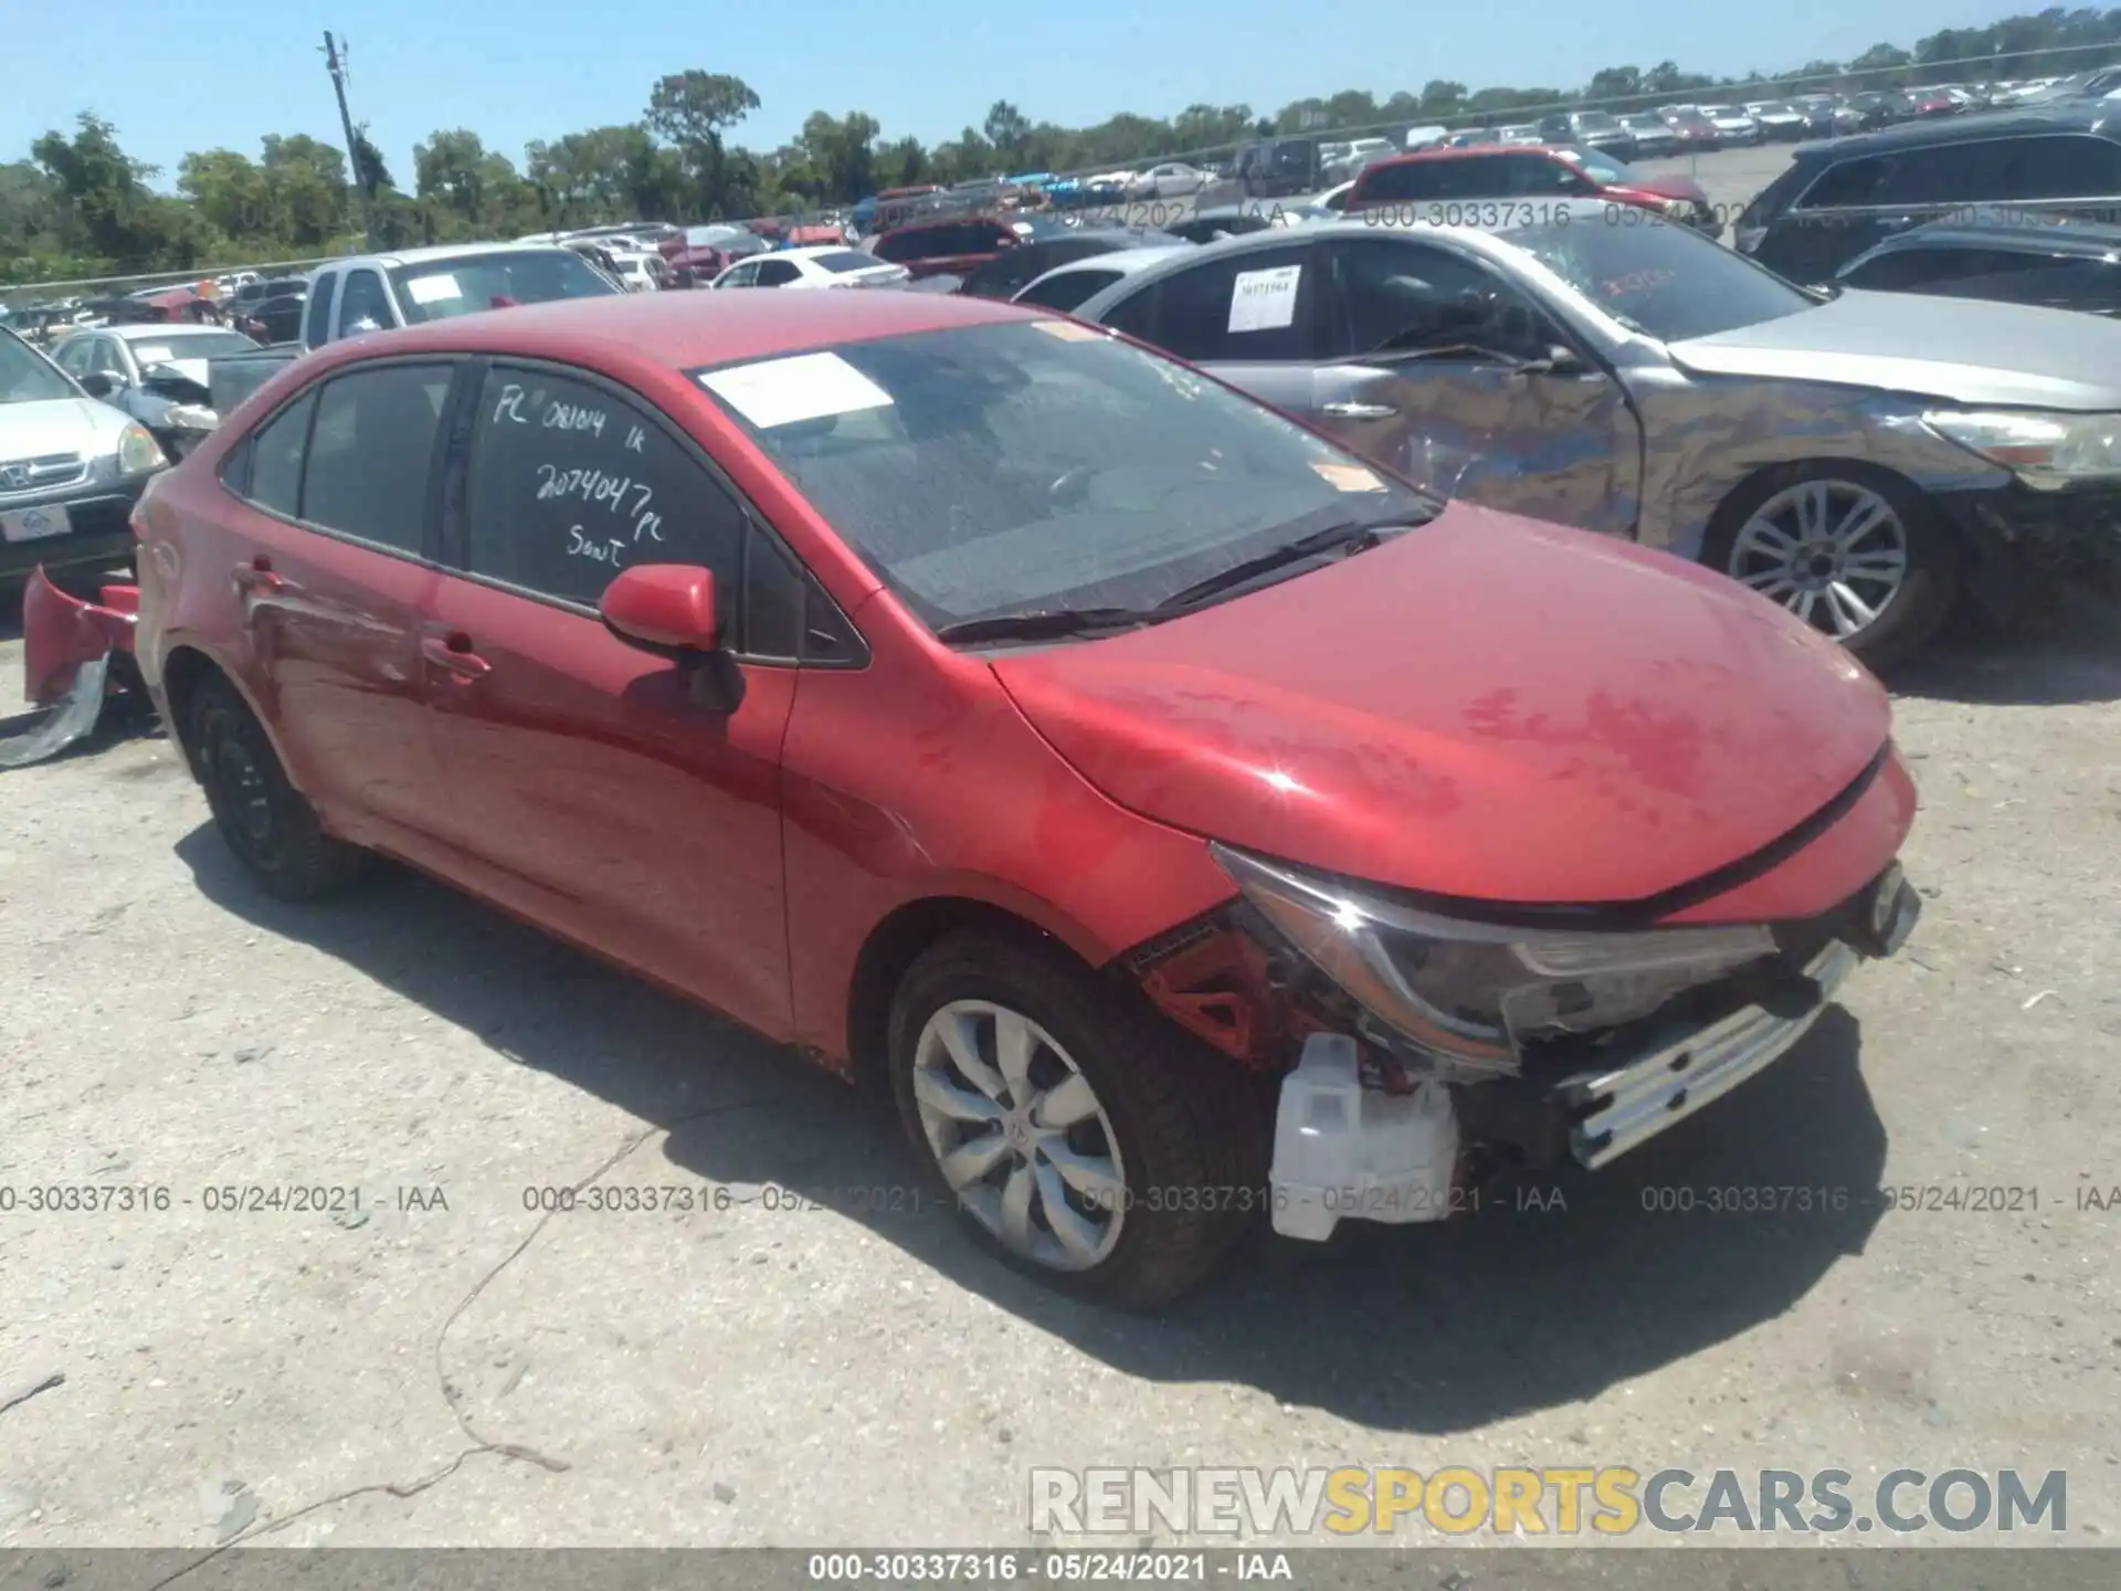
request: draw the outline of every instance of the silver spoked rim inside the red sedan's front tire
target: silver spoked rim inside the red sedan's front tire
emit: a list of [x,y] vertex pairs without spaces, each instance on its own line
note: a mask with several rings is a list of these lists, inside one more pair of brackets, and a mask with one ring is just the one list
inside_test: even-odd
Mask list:
[[959,1205],[1012,1254],[1088,1271],[1120,1241],[1126,1171],[1073,1056],[1022,1012],[952,999],[914,1044],[914,1105]]

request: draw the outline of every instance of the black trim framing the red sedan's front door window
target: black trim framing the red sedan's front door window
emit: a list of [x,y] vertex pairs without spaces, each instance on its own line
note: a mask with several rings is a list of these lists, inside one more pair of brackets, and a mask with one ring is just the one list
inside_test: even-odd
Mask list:
[[855,622],[848,617],[846,609],[840,607],[840,602],[831,596],[831,592],[825,590],[825,581],[817,577],[817,571],[812,571],[810,564],[804,562],[804,558],[787,543],[787,537],[783,537],[772,526],[766,513],[759,511],[759,505],[751,501],[751,496],[730,477],[730,473],[715,460],[715,456],[706,448],[702,448],[700,441],[685,431],[685,426],[677,424],[677,420],[672,420],[660,403],[655,403],[638,388],[632,388],[626,382],[607,375],[604,371],[590,369],[588,365],[573,365],[564,359],[545,359],[541,354],[479,354],[464,359],[464,371],[458,378],[460,386],[452,399],[454,409],[450,412],[450,418],[443,426],[445,439],[439,452],[441,456],[439,479],[433,482],[435,507],[439,518],[435,566],[443,575],[450,575],[452,579],[467,579],[475,585],[486,585],[488,590],[494,592],[507,592],[509,596],[520,596],[526,602],[554,607],[560,609],[562,613],[573,613],[575,617],[602,622],[602,613],[592,602],[577,602],[566,596],[554,596],[551,592],[534,592],[528,585],[515,585],[513,581],[505,581],[496,575],[481,575],[475,569],[471,569],[471,520],[467,503],[467,492],[471,486],[471,439],[473,433],[477,431],[479,395],[486,390],[486,378],[492,373],[496,365],[507,369],[539,371],[558,380],[581,382],[585,386],[594,386],[602,392],[609,392],[613,399],[630,405],[636,412],[643,412],[643,416],[658,429],[662,429],[662,433],[668,439],[672,439],[683,454],[687,454],[696,465],[700,465],[700,469],[706,471],[706,477],[728,494],[730,503],[736,505],[738,518],[744,522],[744,539],[742,545],[738,547],[738,566],[736,566],[736,602],[738,602],[736,622],[740,630],[749,632],[751,628],[751,549],[759,543],[759,537],[764,537],[795,569],[797,581],[804,588],[804,615],[802,615],[804,641],[808,641],[814,628],[810,622],[810,605],[823,602],[827,611],[821,617],[827,619],[827,624],[817,628],[838,630],[851,643],[846,658],[810,658],[810,655],[778,658],[770,653],[749,651],[747,643],[751,641],[751,636],[740,634],[738,645],[725,647],[725,653],[730,658],[734,658],[740,664],[751,664],[755,668],[848,670],[848,668],[870,666],[872,653],[867,636],[863,636],[861,630],[855,628]]

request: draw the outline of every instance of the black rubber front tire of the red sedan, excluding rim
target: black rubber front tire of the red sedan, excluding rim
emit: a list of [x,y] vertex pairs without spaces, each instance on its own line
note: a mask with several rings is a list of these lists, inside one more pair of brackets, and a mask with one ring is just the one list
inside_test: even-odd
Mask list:
[[[1018,1012],[1067,1050],[1118,1139],[1126,1199],[1118,1241],[1094,1266],[1065,1271],[1010,1249],[950,1188],[914,1103],[914,1056],[950,1001]],[[1012,1269],[1092,1302],[1156,1309],[1198,1288],[1266,1209],[1262,1084],[1109,982],[1033,936],[959,931],[906,974],[891,1010],[891,1092],[925,1175],[974,1239]],[[1198,1190],[1194,1196],[1190,1190]]]

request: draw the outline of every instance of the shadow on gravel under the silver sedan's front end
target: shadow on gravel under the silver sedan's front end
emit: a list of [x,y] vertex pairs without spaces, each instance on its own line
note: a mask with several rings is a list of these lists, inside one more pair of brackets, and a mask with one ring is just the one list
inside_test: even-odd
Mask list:
[[2121,592],[2045,594],[2002,634],[1960,626],[1886,683],[1894,696],[1970,706],[2121,700]]

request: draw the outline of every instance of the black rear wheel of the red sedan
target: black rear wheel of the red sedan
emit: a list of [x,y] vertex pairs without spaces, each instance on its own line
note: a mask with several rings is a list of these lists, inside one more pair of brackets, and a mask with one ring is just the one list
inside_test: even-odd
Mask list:
[[361,872],[367,853],[325,834],[265,725],[225,679],[193,692],[185,740],[221,838],[267,895],[316,899]]

